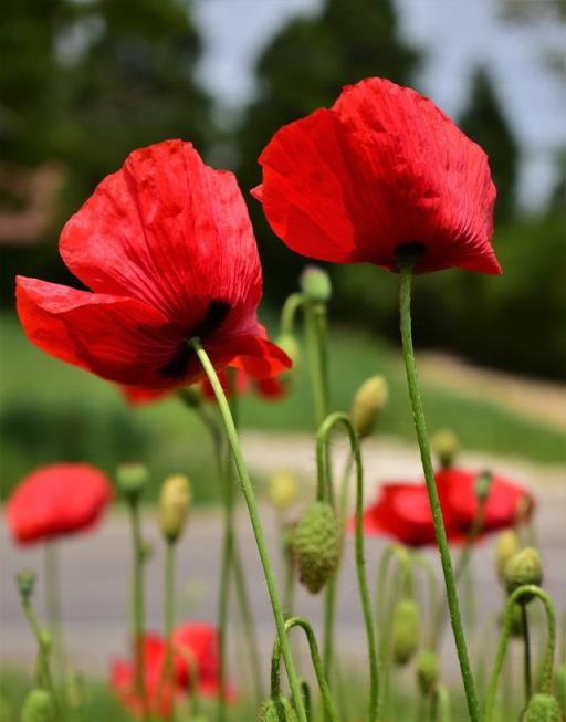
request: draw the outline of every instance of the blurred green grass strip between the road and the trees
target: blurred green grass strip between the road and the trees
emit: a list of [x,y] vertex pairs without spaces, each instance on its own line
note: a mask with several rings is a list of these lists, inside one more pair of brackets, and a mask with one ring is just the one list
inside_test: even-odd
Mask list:
[[[197,417],[176,398],[130,409],[117,389],[51,358],[23,336],[11,314],[0,317],[2,342],[0,452],[2,494],[35,465],[81,460],[108,472],[127,460],[148,464],[159,482],[186,470],[200,503],[216,499],[208,437]],[[248,394],[242,425],[269,433],[308,432],[313,427],[305,363],[300,363],[291,393],[279,402]],[[379,338],[336,329],[331,339],[333,408],[348,409],[368,376],[384,374],[390,404],[381,431],[413,442],[413,429],[400,355]],[[554,428],[518,416],[486,399],[454,395],[423,385],[429,429],[452,428],[468,449],[530,459],[564,460],[564,437]],[[155,496],[158,483],[153,485]]]

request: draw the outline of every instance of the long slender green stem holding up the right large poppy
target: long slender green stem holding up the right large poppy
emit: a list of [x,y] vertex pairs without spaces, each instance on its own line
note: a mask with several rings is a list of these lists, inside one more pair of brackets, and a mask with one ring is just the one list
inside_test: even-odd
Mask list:
[[424,471],[424,479],[427,482],[427,491],[429,495],[430,509],[434,521],[434,532],[442,563],[442,572],[444,575],[444,583],[447,588],[448,607],[450,610],[450,620],[452,622],[452,630],[454,635],[454,642],[460,662],[460,670],[462,673],[462,681],[465,690],[465,698],[468,702],[468,712],[472,722],[479,722],[480,710],[478,699],[475,695],[474,681],[470,659],[468,657],[468,648],[465,643],[464,631],[462,627],[462,619],[460,616],[460,607],[458,603],[458,592],[455,588],[454,577],[452,573],[452,559],[450,558],[450,550],[448,546],[447,533],[444,522],[442,520],[442,510],[440,509],[440,501],[438,498],[437,484],[434,481],[434,472],[432,470],[432,462],[430,459],[430,447],[427,435],[427,425],[424,420],[424,411],[420,398],[419,381],[417,377],[417,366],[415,363],[415,352],[412,348],[412,334],[411,334],[411,282],[412,282],[412,264],[400,264],[400,321],[401,321],[401,339],[405,356],[405,366],[407,370],[407,383],[409,386],[409,396],[411,399],[412,415],[415,419],[415,428],[417,431],[417,439],[420,448],[420,458],[422,469]]

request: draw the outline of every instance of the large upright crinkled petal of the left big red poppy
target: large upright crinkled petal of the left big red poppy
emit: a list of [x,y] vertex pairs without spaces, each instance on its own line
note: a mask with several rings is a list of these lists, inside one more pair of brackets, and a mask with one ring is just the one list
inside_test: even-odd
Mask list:
[[245,316],[261,297],[234,176],[209,168],[181,140],[132,153],[66,223],[60,250],[97,293],[134,296],[187,328],[211,299]]

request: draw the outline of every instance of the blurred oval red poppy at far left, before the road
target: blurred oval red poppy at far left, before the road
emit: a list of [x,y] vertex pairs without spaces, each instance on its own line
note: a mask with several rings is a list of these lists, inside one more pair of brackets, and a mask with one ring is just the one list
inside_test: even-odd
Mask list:
[[102,471],[84,463],[55,463],[28,474],[6,506],[20,544],[49,541],[93,526],[112,499]]

